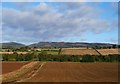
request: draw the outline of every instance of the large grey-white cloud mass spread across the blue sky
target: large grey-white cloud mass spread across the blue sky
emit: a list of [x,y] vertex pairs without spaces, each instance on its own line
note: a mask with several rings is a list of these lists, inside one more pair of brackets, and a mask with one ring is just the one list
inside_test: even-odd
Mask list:
[[67,37],[81,37],[87,32],[109,32],[113,21],[99,18],[98,10],[86,3],[60,3],[58,8],[40,3],[30,11],[3,8],[3,39],[59,41]]

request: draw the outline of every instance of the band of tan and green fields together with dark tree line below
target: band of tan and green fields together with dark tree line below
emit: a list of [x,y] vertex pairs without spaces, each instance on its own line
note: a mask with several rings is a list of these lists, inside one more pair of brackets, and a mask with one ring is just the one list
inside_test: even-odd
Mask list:
[[[60,48],[34,52],[2,52],[2,61],[57,61],[57,62],[118,62],[116,49]],[[20,54],[21,53],[21,54]]]

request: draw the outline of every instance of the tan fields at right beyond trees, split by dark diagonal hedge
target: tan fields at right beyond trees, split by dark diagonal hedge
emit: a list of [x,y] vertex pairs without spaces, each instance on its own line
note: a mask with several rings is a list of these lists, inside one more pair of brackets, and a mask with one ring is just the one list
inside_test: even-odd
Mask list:
[[79,48],[63,48],[61,54],[66,55],[109,55],[109,54],[119,54],[118,49],[79,49]]

